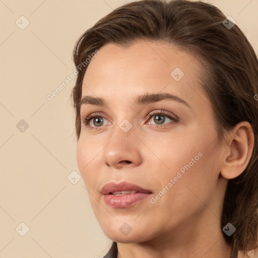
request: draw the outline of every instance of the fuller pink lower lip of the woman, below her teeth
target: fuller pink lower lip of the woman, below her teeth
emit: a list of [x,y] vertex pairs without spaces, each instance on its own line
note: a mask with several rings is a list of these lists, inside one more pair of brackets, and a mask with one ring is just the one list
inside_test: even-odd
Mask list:
[[128,193],[128,195],[123,196],[115,196],[108,193],[107,195],[104,195],[104,201],[112,208],[126,208],[133,206],[141,200],[147,199],[150,195],[151,193],[146,192]]

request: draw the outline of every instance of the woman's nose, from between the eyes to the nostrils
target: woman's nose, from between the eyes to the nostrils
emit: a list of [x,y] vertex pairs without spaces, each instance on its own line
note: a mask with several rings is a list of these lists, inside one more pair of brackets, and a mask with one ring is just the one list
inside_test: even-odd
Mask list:
[[127,133],[117,125],[103,150],[103,160],[108,167],[120,169],[136,167],[142,163],[140,141],[134,128]]

